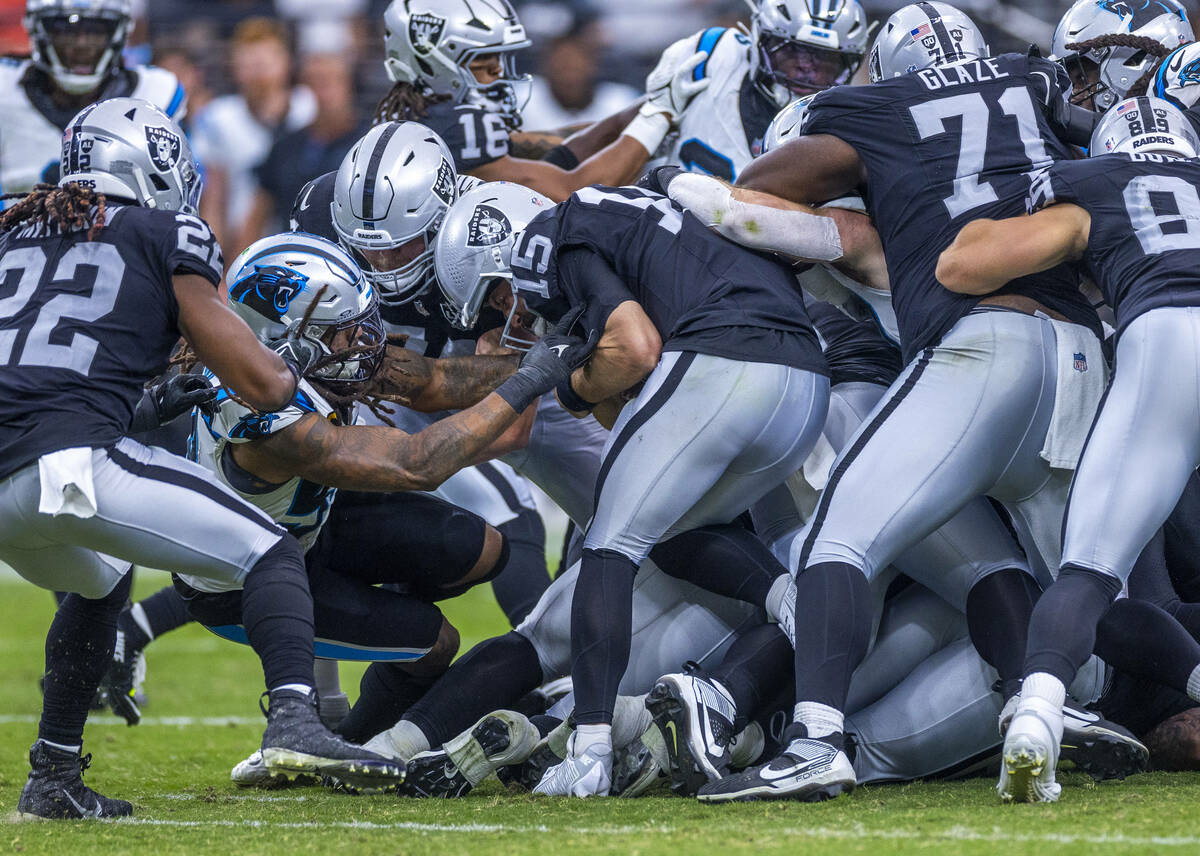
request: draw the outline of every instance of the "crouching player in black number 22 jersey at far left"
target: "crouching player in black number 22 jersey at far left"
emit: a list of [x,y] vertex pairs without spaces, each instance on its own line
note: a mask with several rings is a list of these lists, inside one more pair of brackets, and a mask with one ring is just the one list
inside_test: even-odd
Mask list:
[[36,585],[73,592],[49,630],[18,810],[132,812],[80,778],[88,702],[112,658],[128,562],[245,587],[246,634],[270,696],[270,768],[395,782],[398,767],[317,718],[312,598],[295,539],[203,469],[125,437],[142,385],[180,335],[263,409],[289,401],[306,367],[287,342],[287,359],[272,354],[223,306],[221,249],[194,216],[200,180],[187,140],[150,103],[115,98],[72,121],[62,173],[60,187],[38,188],[0,220],[0,268],[17,283],[0,322],[0,556]]

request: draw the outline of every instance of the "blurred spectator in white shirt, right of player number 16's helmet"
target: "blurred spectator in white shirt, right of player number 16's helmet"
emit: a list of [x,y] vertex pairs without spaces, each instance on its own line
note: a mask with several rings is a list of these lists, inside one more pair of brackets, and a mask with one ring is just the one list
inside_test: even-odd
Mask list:
[[590,28],[552,40],[533,79],[521,115],[530,131],[594,122],[629,107],[642,94],[622,83],[600,80],[600,44]]

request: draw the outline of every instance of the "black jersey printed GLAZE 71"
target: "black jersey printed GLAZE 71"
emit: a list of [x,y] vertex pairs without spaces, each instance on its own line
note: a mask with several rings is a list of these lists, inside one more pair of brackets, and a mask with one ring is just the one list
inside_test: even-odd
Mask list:
[[[937,345],[980,298],[934,276],[959,229],[1025,210],[1030,175],[1070,154],[1054,106],[1070,92],[1062,66],[1004,54],[864,86],[834,86],[809,107],[805,134],[828,133],[866,167],[863,196],[883,241],[905,360]],[[1025,277],[1020,294],[1099,331],[1073,268]]]

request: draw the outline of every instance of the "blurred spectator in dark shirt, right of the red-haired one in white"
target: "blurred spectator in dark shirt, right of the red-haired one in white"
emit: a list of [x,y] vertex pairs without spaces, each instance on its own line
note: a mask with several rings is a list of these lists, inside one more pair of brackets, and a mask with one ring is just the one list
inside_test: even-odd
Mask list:
[[317,118],[275,140],[258,167],[258,190],[242,228],[241,247],[286,229],[300,188],[337,169],[350,146],[371,130],[354,108],[354,74],[344,54],[310,54],[302,60],[300,79],[317,100]]

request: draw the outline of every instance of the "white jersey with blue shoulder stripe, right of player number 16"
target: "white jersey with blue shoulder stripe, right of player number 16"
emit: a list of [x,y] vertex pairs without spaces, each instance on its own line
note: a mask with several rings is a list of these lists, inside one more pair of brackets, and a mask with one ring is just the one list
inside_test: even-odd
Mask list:
[[762,152],[779,106],[750,82],[752,44],[745,34],[714,26],[696,38],[709,54],[696,74],[712,83],[684,110],[667,163],[734,181]]

